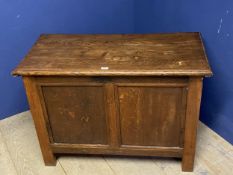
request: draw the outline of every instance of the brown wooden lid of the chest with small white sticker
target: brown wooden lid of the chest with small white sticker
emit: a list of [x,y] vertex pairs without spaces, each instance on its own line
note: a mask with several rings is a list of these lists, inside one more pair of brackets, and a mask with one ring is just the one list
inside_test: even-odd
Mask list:
[[208,76],[199,33],[44,34],[13,75]]

